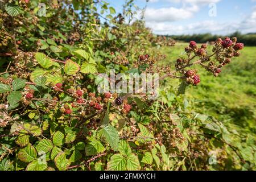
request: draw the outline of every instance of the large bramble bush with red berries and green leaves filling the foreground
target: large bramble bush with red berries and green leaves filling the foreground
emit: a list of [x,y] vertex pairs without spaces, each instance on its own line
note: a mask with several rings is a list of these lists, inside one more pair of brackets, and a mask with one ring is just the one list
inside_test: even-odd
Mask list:
[[[218,39],[212,53],[191,41],[175,67],[156,67],[158,37],[126,1],[3,1],[0,170],[255,169],[254,138],[195,113],[183,94],[217,77],[243,48]],[[141,11],[143,12],[143,10]],[[143,17],[143,16],[142,16]],[[170,47],[171,48],[171,47]],[[100,73],[159,73],[159,95],[99,93]],[[180,80],[179,90],[166,78]]]

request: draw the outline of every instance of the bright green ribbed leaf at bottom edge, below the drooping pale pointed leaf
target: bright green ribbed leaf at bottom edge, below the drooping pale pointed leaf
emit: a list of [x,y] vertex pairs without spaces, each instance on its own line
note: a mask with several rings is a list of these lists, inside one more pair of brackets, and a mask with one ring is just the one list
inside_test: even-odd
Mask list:
[[109,162],[107,170],[109,171],[125,171],[126,170],[126,160],[121,154],[114,154]]

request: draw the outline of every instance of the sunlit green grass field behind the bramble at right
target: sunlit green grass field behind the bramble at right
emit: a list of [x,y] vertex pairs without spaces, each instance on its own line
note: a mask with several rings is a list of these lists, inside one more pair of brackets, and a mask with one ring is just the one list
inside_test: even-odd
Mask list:
[[[177,57],[182,56],[187,43],[177,43],[174,47],[162,47],[160,51],[167,56],[160,65],[174,68]],[[212,47],[208,47],[208,51]],[[256,47],[245,47],[240,57],[226,65],[218,77],[203,71],[199,65],[201,83],[189,86],[185,98],[193,110],[210,115],[225,123],[233,131],[256,133]],[[178,81],[168,80],[177,88]],[[240,132],[239,132],[240,133]]]

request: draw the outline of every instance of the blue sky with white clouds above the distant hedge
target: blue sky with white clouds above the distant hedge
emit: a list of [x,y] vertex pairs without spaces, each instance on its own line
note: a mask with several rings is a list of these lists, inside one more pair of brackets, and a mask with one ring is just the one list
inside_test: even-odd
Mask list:
[[[106,2],[119,12],[125,0]],[[146,0],[135,3],[144,7]],[[246,34],[256,32],[256,0],[150,0],[145,20],[147,27],[162,35]]]

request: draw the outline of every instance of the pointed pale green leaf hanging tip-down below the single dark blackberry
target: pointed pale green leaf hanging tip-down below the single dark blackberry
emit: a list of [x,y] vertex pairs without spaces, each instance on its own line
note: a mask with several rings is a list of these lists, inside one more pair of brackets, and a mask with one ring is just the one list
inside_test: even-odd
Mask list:
[[118,149],[119,143],[119,135],[118,131],[115,129],[114,126],[108,125],[102,129],[102,133],[106,139],[106,141],[110,144],[114,151]]

